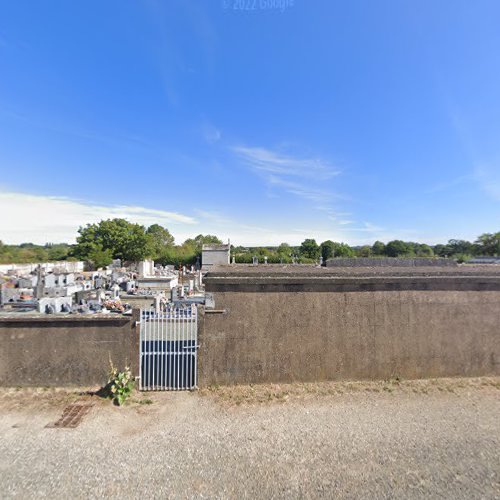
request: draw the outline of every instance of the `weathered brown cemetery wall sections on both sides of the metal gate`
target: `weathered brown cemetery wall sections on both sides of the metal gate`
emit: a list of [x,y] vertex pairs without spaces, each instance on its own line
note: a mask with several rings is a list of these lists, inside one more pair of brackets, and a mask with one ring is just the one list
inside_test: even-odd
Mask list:
[[[199,385],[500,375],[500,271],[351,269],[210,272]],[[0,385],[102,385],[110,356],[138,374],[137,313],[0,318]]]

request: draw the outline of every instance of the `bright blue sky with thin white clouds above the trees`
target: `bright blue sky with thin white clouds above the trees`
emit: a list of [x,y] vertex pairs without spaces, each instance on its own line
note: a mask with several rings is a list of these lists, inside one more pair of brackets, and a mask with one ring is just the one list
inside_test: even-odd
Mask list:
[[0,0],[0,239],[498,231],[499,25],[497,0]]

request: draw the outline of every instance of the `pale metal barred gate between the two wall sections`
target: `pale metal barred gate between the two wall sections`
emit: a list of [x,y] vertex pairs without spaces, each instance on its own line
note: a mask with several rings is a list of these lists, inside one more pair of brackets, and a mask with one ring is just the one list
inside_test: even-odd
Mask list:
[[196,305],[142,309],[140,389],[169,391],[197,385],[198,310]]

